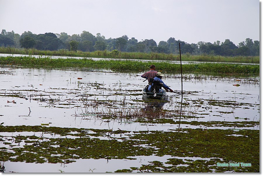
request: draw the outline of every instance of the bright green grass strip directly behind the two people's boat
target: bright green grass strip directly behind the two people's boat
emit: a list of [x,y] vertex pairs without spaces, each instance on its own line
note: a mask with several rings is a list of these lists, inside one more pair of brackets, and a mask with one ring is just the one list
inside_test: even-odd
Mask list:
[[[36,57],[0,57],[0,66],[15,65],[32,68],[103,68],[120,71],[147,71],[154,64],[158,71],[180,72],[180,64],[165,62],[142,62],[130,60],[51,59]],[[259,75],[259,65],[237,64],[184,64],[183,73],[226,73]]]

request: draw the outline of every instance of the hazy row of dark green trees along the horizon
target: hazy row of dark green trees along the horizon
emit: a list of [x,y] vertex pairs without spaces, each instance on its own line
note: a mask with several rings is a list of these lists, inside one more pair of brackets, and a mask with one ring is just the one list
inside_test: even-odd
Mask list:
[[195,43],[186,43],[175,40],[170,37],[167,41],[157,43],[153,39],[139,41],[134,37],[128,38],[124,35],[119,38],[108,38],[97,33],[96,36],[90,32],[83,31],[80,35],[68,35],[65,32],[60,34],[45,33],[33,34],[25,31],[23,34],[15,34],[14,31],[6,32],[2,30],[0,34],[0,46],[15,48],[35,48],[37,50],[60,50],[93,52],[98,50],[118,50],[120,52],[155,52],[165,54],[179,54],[179,43],[182,54],[200,55],[220,55],[220,56],[259,56],[259,41],[253,41],[246,38],[236,46],[229,39],[224,42],[216,41],[214,43],[200,41]]

